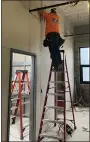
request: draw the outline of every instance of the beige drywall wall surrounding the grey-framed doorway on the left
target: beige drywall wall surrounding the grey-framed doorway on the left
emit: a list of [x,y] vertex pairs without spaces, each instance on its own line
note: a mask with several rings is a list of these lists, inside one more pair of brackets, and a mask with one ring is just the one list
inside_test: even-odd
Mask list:
[[[37,25],[37,26],[36,26]],[[37,34],[36,34],[37,33]],[[7,113],[8,113],[8,87],[10,48],[35,53],[37,55],[37,104],[40,108],[40,21],[32,16],[20,1],[3,1],[2,3],[2,140],[7,141]],[[6,60],[5,58],[6,57]],[[5,77],[6,76],[6,77]],[[7,81],[6,81],[7,78]],[[4,103],[6,106],[4,106]],[[4,109],[5,107],[5,109]],[[39,115],[38,109],[38,117]],[[38,120],[37,120],[38,121]],[[38,121],[39,123],[39,121]],[[37,124],[38,124],[37,123]]]

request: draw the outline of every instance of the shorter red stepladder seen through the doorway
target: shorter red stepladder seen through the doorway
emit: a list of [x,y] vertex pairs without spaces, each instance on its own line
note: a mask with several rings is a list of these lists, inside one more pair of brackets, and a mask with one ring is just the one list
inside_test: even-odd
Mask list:
[[11,99],[11,102],[16,101],[16,105],[11,108],[11,110],[14,110],[14,115],[11,118],[12,118],[12,124],[15,124],[18,108],[20,107],[20,139],[22,140],[23,139],[23,132],[24,132],[25,128],[27,127],[27,126],[23,127],[23,122],[22,122],[22,117],[25,116],[25,114],[23,115],[23,112],[22,112],[23,104],[30,103],[30,101],[22,103],[22,97],[23,97],[22,91],[23,91],[23,87],[25,85],[24,83],[27,84],[28,95],[30,95],[30,81],[29,81],[29,77],[28,77],[28,70],[17,70],[16,71],[14,81],[11,85],[12,97],[13,97],[13,91],[15,89],[16,83],[18,85],[18,94],[17,94],[16,98]]

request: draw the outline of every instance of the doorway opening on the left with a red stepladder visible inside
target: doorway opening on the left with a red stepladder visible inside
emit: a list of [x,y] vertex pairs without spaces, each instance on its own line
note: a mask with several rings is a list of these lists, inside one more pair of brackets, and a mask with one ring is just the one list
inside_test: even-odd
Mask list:
[[[31,117],[35,120],[35,55],[11,50],[9,141],[30,141]],[[31,116],[32,115],[32,116]],[[34,124],[35,129],[35,124]],[[35,133],[35,132],[34,132]]]

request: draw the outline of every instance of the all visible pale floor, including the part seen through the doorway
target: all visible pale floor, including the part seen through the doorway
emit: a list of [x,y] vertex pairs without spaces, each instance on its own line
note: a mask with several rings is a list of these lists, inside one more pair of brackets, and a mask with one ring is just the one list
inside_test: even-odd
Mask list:
[[[58,118],[61,118],[61,115],[58,114]],[[67,119],[72,119],[71,112],[67,112]],[[77,129],[73,132],[72,137],[68,136],[67,141],[89,141],[89,132],[83,131],[82,127],[88,128],[89,130],[89,108],[76,108],[75,109],[75,120]],[[24,125],[29,124],[29,119],[23,119]],[[55,129],[55,128],[54,128]],[[52,134],[54,132],[52,130]],[[19,120],[15,125],[10,126],[10,141],[21,141],[19,136]],[[24,132],[24,140],[29,141],[29,127],[26,128]],[[46,141],[53,141],[52,139],[47,139]],[[55,140],[54,140],[55,141]]]

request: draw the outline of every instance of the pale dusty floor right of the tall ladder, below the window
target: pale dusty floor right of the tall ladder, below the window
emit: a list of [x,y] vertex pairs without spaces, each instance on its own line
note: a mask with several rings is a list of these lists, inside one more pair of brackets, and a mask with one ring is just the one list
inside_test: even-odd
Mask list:
[[[68,117],[70,115],[71,113],[68,112]],[[77,129],[74,131],[72,137],[69,137],[67,140],[88,142],[90,132],[83,131],[82,127],[88,128],[89,131],[89,108],[76,108],[75,120]]]

